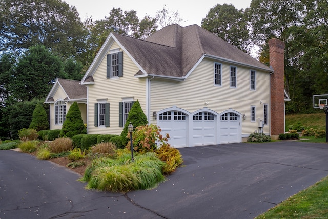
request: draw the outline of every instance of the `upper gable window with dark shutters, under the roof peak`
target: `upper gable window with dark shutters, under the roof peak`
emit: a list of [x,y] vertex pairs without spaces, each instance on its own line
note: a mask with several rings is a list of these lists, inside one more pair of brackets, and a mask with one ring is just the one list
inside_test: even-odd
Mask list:
[[107,55],[107,78],[123,76],[123,52]]

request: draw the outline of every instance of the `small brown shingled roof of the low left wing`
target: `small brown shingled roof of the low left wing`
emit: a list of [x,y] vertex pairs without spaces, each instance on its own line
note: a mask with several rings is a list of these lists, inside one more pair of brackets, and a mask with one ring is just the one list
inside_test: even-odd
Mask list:
[[65,90],[69,99],[87,99],[87,87],[80,84],[80,81],[57,79],[61,87]]

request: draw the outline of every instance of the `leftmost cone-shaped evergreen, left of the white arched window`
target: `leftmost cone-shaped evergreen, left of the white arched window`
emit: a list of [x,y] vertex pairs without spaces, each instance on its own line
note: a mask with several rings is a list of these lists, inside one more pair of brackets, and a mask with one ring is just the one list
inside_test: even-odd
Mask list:
[[49,128],[46,110],[40,103],[37,103],[35,106],[29,128],[36,129],[36,131],[47,130]]

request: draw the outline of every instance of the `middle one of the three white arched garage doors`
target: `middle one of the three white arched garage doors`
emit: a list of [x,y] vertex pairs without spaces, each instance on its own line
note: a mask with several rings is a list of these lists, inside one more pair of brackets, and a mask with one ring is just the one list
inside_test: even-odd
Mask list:
[[210,112],[199,112],[193,116],[193,146],[215,144],[215,118]]

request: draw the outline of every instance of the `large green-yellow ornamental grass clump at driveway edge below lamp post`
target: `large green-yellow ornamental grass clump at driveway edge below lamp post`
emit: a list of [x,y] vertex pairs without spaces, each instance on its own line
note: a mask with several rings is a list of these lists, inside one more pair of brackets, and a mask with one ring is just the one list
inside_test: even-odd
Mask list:
[[161,169],[165,165],[154,153],[137,155],[122,153],[117,159],[100,158],[87,168],[83,181],[87,188],[111,192],[126,192],[153,188],[164,181]]

